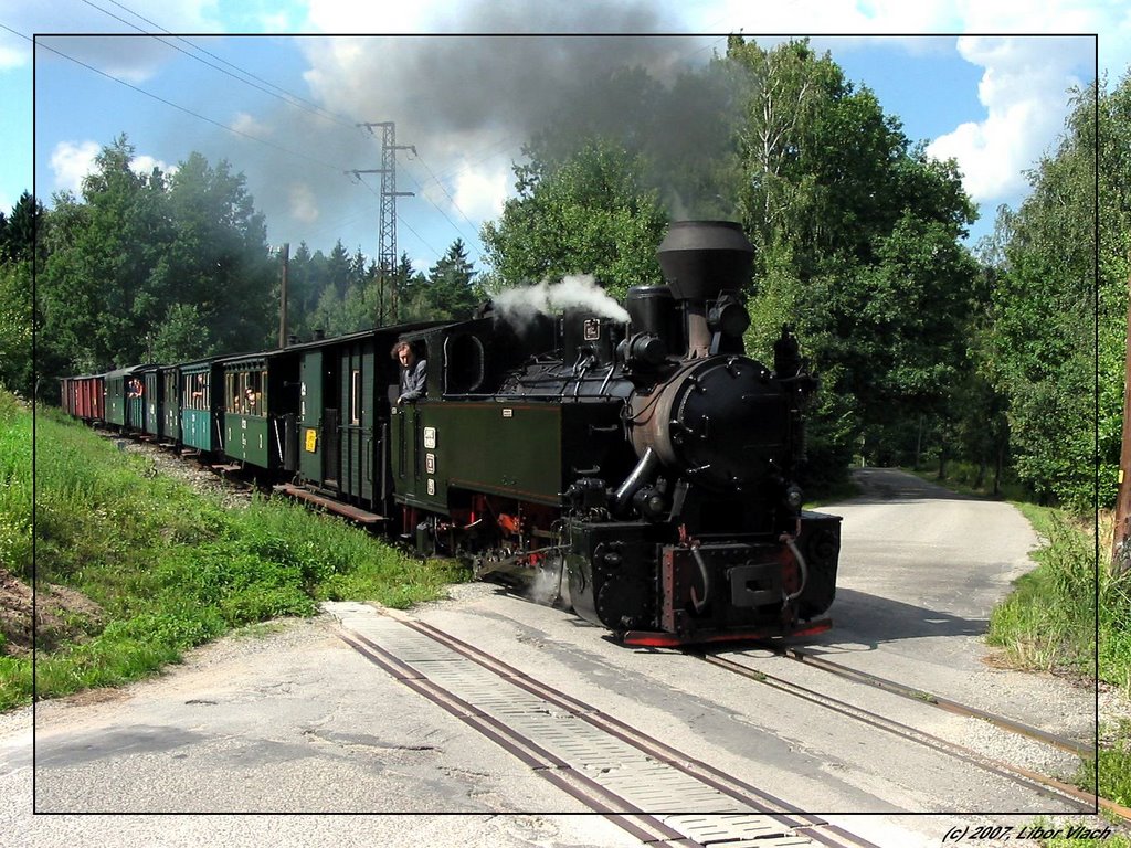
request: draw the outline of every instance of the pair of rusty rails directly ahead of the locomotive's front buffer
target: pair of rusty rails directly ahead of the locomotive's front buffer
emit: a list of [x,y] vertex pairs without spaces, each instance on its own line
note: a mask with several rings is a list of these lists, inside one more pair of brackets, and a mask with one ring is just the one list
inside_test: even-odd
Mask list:
[[[791,661],[801,663],[808,667],[817,668],[828,674],[835,675],[843,680],[847,680],[864,686],[870,686],[874,689],[882,690],[884,692],[898,695],[912,700],[920,704],[926,704],[931,708],[940,709],[946,712],[956,716],[962,716],[966,718],[974,718],[981,721],[985,721],[994,727],[999,728],[1009,734],[1013,734],[1026,739],[1035,741],[1043,745],[1047,745],[1057,751],[1067,752],[1076,756],[1085,758],[1094,754],[1094,747],[1081,743],[1077,739],[1072,739],[1057,734],[1052,734],[1046,730],[1042,730],[1037,727],[1033,727],[1025,722],[1018,721],[1016,719],[1009,718],[1007,716],[1001,716],[998,713],[988,712],[976,707],[970,707],[964,704],[959,701],[943,698],[931,692],[926,692],[922,689],[907,686],[901,683],[888,680],[886,677],[880,677],[866,672],[861,672],[854,668],[849,668],[839,663],[835,663],[824,657],[821,657],[812,651],[806,651],[798,648],[787,648],[772,643],[761,643],[760,648],[771,652],[772,655],[788,659]],[[835,711],[841,716],[847,716],[871,727],[878,728],[880,730],[887,732],[900,738],[914,742],[920,745],[924,745],[929,749],[940,751],[942,753],[955,756],[964,762],[973,763],[991,773],[998,775],[1000,777],[1005,777],[1007,779],[1013,780],[1020,785],[1027,786],[1035,791],[1038,791],[1046,796],[1067,798],[1079,805],[1079,812],[1081,813],[1095,813],[1098,808],[1103,808],[1114,815],[1122,817],[1124,821],[1131,821],[1131,810],[1128,807],[1115,804],[1106,798],[1098,798],[1097,796],[1086,793],[1076,786],[1065,784],[1055,778],[1048,777],[1047,775],[1042,775],[1033,769],[1024,768],[1013,763],[1005,762],[1004,760],[988,756],[979,751],[975,751],[966,745],[961,745],[938,735],[926,733],[918,728],[912,727],[907,724],[896,721],[892,718],[881,715],[874,710],[865,709],[856,704],[852,704],[840,698],[829,695],[827,693],[817,691],[815,689],[806,685],[802,685],[794,681],[786,680],[783,676],[769,674],[760,668],[754,668],[736,659],[719,656],[717,652],[707,652],[701,650],[687,650],[687,654],[696,656],[708,663],[711,666],[722,668],[724,670],[731,672],[733,674],[740,675],[748,680],[756,681],[757,683],[770,686],[777,691],[791,694],[796,698],[801,698],[810,703],[815,703],[820,707]]]

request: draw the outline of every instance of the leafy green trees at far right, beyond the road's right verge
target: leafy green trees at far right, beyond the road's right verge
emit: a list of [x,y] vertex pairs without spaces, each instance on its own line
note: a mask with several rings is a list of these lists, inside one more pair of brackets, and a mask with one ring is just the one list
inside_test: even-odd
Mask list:
[[985,251],[992,285],[979,369],[1005,400],[1020,478],[1045,500],[1082,509],[1098,471],[1105,505],[1123,414],[1131,77],[1112,92],[1077,92],[1059,144],[1028,178],[1029,197],[999,210]]

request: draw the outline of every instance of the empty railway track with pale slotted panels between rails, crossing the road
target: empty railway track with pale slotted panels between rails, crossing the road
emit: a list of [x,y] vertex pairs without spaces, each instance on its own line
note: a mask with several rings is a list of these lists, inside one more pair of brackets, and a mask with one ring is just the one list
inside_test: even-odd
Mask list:
[[327,606],[368,660],[649,846],[874,848],[434,626]]

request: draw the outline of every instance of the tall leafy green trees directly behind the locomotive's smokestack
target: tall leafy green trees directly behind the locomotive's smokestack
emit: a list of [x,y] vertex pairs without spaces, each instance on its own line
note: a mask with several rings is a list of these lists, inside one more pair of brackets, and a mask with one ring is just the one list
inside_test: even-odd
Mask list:
[[[666,207],[736,218],[756,249],[748,347],[770,358],[791,325],[823,381],[812,476],[843,474],[861,452],[915,461],[924,435],[938,453],[973,371],[977,266],[960,239],[974,209],[953,163],[929,159],[874,94],[806,42],[765,51],[734,37],[698,83],[673,86],[670,103],[645,77],[610,84],[633,86],[625,102],[661,116],[651,131],[636,120],[575,123],[530,145],[517,197],[484,227],[494,272],[515,284],[590,270],[623,294],[659,282]],[[711,105],[679,123],[694,153],[664,131],[689,102]]]

